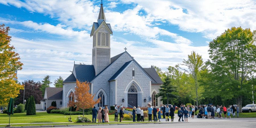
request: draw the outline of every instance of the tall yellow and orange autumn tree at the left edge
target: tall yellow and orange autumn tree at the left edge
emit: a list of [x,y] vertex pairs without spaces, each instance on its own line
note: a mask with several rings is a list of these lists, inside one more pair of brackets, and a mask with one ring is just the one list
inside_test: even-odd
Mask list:
[[[16,70],[22,69],[20,57],[15,53],[13,46],[10,46],[11,36],[8,36],[9,27],[0,25],[0,104],[7,104],[9,98],[16,98],[24,89],[23,85],[17,84]],[[17,78],[16,78],[17,79]]]

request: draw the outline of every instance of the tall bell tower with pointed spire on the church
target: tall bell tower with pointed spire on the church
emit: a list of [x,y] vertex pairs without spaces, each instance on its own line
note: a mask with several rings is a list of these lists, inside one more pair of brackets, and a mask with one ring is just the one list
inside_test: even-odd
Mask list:
[[113,34],[110,24],[106,23],[106,18],[101,1],[98,21],[93,22],[90,36],[92,41],[92,65],[94,65],[95,75],[98,75],[110,64],[110,34]]

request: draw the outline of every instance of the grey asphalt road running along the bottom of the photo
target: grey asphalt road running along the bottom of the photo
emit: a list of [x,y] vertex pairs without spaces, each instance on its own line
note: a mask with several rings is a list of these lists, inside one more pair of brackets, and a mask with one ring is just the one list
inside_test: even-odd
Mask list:
[[[255,116],[256,117],[256,116]],[[175,121],[175,120],[174,120]],[[256,118],[233,118],[233,119],[188,119],[189,122],[160,122],[160,124],[124,124],[124,125],[104,125],[104,126],[79,126],[79,127],[72,127],[72,128],[158,128],[158,127],[211,127],[211,128],[218,128],[218,127],[231,127],[231,128],[255,128],[256,127]],[[153,122],[141,122],[141,123],[154,123]],[[97,124],[97,123],[92,123]],[[62,128],[62,127],[60,127]],[[64,128],[64,127],[63,127]],[[67,127],[65,127],[67,128]]]

